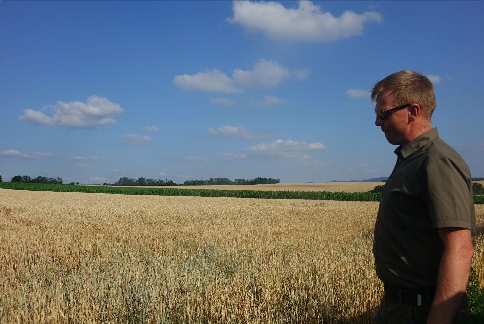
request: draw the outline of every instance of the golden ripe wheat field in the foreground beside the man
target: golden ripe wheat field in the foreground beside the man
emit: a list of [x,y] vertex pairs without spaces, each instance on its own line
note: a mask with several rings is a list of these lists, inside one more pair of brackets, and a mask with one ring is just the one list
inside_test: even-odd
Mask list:
[[0,322],[367,323],[377,209],[0,189]]

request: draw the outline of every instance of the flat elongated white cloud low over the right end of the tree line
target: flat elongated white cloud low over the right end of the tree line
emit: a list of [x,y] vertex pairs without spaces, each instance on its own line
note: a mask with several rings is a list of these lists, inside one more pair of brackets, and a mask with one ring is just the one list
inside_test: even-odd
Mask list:
[[308,151],[322,150],[325,146],[319,142],[306,143],[292,140],[275,140],[251,146],[247,151],[255,157],[281,160],[311,160]]

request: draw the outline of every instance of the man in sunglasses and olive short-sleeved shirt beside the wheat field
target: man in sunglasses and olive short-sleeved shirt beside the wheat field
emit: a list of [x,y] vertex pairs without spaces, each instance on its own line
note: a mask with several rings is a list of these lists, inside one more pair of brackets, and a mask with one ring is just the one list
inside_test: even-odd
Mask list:
[[375,223],[385,295],[374,323],[465,322],[475,235],[469,167],[432,128],[436,101],[427,77],[391,74],[375,84],[372,101],[375,125],[399,145]]

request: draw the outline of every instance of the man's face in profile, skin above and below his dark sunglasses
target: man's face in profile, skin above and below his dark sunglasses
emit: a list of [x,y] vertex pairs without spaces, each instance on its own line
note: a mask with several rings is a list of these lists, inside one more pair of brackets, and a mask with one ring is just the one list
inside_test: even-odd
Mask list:
[[[385,111],[392,108],[395,108],[392,91],[387,90],[379,94],[376,100],[375,109]],[[389,114],[386,119],[377,115],[375,125],[382,129],[390,144],[405,145],[408,143],[407,136],[410,131],[408,109],[395,111]]]

